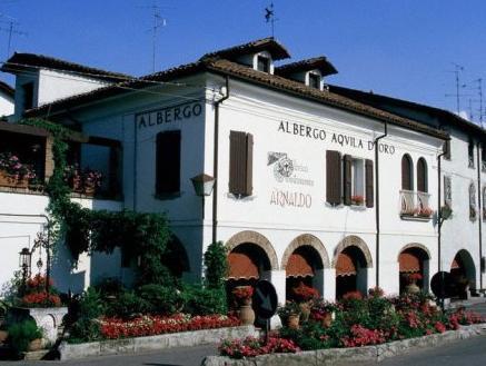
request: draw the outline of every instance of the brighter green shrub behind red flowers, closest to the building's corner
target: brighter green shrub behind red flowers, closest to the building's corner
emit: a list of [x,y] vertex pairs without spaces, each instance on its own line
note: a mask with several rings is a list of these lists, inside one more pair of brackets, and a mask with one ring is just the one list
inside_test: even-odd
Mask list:
[[226,291],[201,285],[185,285],[182,293],[184,313],[191,315],[226,314]]

